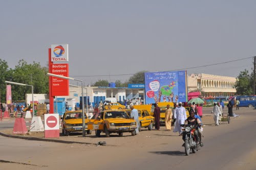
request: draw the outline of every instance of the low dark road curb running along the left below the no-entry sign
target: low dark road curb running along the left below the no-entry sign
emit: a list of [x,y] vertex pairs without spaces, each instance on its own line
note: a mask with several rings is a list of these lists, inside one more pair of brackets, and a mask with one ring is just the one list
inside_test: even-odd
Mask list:
[[93,144],[93,145],[97,145],[97,143],[88,143],[88,142],[75,142],[75,141],[66,141],[66,140],[57,140],[57,139],[15,136],[15,135],[8,135],[8,134],[2,133],[2,132],[0,132],[0,135],[4,136],[4,137],[9,137],[9,138],[26,139],[26,140],[37,140],[37,141],[45,141],[45,142],[56,142],[56,143],[66,143],[66,144],[78,143],[78,144]]

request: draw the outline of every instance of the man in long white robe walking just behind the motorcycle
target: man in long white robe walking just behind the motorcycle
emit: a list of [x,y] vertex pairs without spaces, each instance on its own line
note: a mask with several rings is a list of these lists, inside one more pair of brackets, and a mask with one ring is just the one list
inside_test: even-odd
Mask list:
[[187,119],[186,109],[182,107],[182,102],[179,102],[179,106],[174,111],[174,132],[179,132],[179,135],[182,135],[182,127],[181,124],[185,124],[185,120]]

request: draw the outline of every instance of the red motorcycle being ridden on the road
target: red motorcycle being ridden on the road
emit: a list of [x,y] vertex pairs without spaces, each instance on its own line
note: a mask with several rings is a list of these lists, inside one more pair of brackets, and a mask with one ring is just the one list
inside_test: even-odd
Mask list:
[[[191,124],[181,124],[182,128],[182,138],[184,140],[184,147],[185,147],[185,153],[188,156],[190,151],[192,153],[196,153],[198,151],[197,147],[197,141],[195,136],[195,130],[198,128],[198,125],[191,125]],[[202,142],[200,142],[200,145],[202,146]]]

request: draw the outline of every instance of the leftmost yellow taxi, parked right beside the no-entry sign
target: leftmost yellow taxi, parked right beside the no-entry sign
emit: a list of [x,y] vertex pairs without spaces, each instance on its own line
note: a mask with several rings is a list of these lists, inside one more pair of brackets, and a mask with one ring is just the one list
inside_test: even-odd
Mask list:
[[[92,131],[87,129],[88,118],[84,113],[84,124],[87,134]],[[62,134],[69,136],[70,132],[82,132],[82,111],[67,111],[61,117]]]

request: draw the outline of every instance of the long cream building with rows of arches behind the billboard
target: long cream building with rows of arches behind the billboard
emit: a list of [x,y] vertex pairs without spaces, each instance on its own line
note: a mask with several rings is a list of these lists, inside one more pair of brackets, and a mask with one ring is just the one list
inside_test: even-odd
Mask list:
[[202,97],[233,96],[236,77],[227,77],[211,74],[191,74],[187,76],[188,92],[200,91]]

